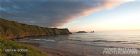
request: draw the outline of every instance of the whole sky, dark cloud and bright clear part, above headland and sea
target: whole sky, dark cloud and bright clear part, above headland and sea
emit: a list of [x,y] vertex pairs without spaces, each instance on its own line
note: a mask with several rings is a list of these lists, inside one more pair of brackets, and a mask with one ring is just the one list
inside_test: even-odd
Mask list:
[[0,0],[0,17],[70,31],[139,30],[139,0]]

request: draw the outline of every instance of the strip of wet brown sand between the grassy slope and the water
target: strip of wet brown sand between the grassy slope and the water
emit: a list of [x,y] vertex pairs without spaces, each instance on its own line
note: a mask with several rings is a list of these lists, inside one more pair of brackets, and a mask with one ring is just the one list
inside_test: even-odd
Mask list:
[[53,48],[44,48],[40,47],[38,43],[26,43],[26,42],[19,42],[19,43],[24,43],[24,44],[29,44],[32,45],[36,48],[38,48],[40,51],[47,53],[48,56],[81,56],[78,54],[62,51],[62,50],[57,50]]

